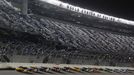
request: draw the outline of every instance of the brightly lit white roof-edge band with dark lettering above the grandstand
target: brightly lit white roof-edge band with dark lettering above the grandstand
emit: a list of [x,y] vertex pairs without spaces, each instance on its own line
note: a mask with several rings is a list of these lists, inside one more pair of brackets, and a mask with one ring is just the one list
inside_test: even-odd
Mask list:
[[81,7],[78,7],[78,6],[74,6],[74,5],[71,5],[71,4],[68,4],[68,3],[64,3],[64,2],[59,1],[59,0],[41,0],[41,1],[47,2],[47,3],[52,4],[52,5],[56,5],[56,6],[59,6],[61,8],[65,8],[65,9],[68,9],[67,6],[69,6],[71,8],[79,9],[79,11],[87,11],[89,13],[93,13],[94,15],[69,9],[69,10],[74,11],[74,12],[78,12],[78,13],[82,13],[82,14],[86,14],[86,15],[90,15],[90,16],[94,16],[94,17],[98,17],[98,15],[100,15],[98,18],[102,18],[102,19],[105,19],[105,20],[114,21],[114,22],[118,22],[118,23],[123,23],[123,24],[134,25],[134,21],[123,19],[123,18],[118,18],[118,17],[114,17],[114,16],[109,16],[109,15],[102,14],[102,13],[99,13],[99,12],[96,12],[96,11],[92,11],[92,10],[89,10],[89,9],[84,9],[84,8],[81,8]]

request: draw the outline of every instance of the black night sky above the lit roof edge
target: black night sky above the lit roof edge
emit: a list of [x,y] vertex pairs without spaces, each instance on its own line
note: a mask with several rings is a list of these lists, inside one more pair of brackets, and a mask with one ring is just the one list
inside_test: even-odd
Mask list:
[[61,0],[101,13],[134,20],[134,2],[130,0]]

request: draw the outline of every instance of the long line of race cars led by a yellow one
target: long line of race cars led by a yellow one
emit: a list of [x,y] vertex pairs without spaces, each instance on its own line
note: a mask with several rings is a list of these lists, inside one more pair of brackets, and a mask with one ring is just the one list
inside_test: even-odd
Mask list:
[[19,66],[18,68],[15,69],[18,72],[22,73],[40,73],[40,72],[47,72],[47,73],[52,73],[52,72],[58,72],[58,73],[63,73],[63,72],[87,72],[87,73],[134,73],[133,70],[129,69],[109,69],[109,68],[87,68],[87,67],[23,67]]

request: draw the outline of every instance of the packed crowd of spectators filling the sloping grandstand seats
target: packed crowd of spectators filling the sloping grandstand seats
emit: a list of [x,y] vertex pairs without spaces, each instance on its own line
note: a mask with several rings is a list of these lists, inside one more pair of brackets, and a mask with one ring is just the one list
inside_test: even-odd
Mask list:
[[[61,54],[88,56],[90,53],[103,53],[103,56],[127,55],[119,60],[133,59],[134,37],[99,31],[73,23],[68,23],[35,14],[23,15],[10,6],[5,0],[0,1],[0,27],[12,31],[24,32],[43,37],[44,44],[27,40],[6,39],[0,41],[0,54],[45,55]],[[107,55],[108,54],[108,55]]]

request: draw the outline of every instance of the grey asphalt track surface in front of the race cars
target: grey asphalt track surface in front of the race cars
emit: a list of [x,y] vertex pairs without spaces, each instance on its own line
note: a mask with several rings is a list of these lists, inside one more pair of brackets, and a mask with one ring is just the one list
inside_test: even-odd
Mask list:
[[20,73],[16,71],[0,71],[0,75],[134,75],[134,73],[32,73],[32,74],[26,74],[26,73]]

